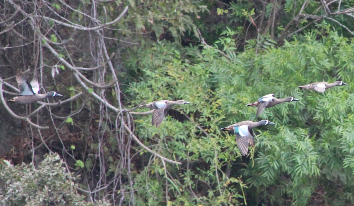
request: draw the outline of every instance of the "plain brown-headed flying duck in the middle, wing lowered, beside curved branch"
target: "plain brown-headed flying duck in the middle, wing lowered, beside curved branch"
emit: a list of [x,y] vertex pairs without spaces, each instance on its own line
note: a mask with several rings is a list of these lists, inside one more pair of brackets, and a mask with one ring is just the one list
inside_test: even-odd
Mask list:
[[147,107],[150,109],[154,109],[153,112],[153,119],[151,123],[158,128],[164,120],[167,110],[173,105],[183,105],[183,104],[190,104],[190,102],[184,101],[183,99],[177,101],[169,101],[169,100],[159,100],[153,101],[146,105],[140,105],[141,107]]

